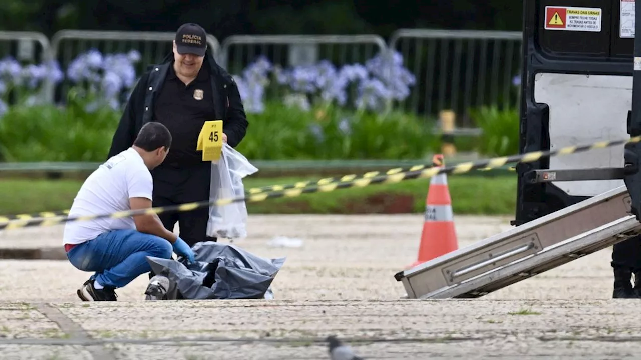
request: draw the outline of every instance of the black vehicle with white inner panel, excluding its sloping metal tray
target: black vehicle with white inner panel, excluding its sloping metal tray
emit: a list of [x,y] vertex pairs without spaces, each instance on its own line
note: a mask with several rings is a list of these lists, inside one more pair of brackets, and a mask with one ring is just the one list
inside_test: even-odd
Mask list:
[[[520,152],[638,136],[635,0],[525,0],[524,6]],[[634,157],[627,158],[632,162],[626,165],[626,181],[623,145],[519,164],[512,224],[526,224],[624,184],[638,183],[631,193],[638,208],[641,181],[635,180]]]

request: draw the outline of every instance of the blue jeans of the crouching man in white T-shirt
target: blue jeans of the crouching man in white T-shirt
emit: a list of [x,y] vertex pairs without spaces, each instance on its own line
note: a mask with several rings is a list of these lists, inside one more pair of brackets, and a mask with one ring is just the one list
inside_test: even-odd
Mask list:
[[151,272],[147,256],[171,259],[169,241],[135,230],[103,233],[94,240],[76,245],[67,253],[71,265],[95,272],[90,279],[106,287],[122,288],[138,276]]

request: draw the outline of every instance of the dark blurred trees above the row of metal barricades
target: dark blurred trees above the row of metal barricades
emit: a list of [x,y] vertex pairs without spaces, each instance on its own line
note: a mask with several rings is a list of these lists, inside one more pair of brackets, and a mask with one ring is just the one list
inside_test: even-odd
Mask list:
[[176,31],[197,22],[219,40],[231,35],[376,34],[399,28],[520,31],[514,0],[2,0],[0,31],[62,29]]

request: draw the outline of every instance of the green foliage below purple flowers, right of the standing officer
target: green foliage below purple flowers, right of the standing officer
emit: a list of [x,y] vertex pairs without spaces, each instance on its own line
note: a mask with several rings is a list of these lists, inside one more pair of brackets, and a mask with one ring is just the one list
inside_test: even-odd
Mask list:
[[303,111],[271,102],[248,118],[238,151],[254,160],[420,159],[440,144],[424,120],[399,112]]

